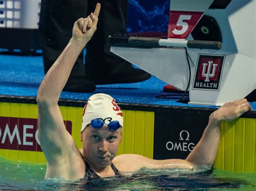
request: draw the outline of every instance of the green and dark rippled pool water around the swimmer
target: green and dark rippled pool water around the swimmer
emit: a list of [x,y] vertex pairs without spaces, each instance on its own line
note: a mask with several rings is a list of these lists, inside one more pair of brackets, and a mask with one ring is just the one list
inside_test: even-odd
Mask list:
[[146,169],[124,176],[91,181],[44,180],[46,165],[12,162],[0,157],[2,189],[256,189],[255,173],[196,169]]

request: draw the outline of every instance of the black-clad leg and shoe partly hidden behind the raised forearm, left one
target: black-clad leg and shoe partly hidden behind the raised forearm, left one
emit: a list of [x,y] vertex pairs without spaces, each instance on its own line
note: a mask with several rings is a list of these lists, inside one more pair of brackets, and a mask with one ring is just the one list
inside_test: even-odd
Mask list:
[[[39,37],[45,74],[68,44],[72,37],[73,24],[81,17],[87,17],[87,0],[42,0]],[[85,79],[83,52],[79,55],[64,90],[95,90],[95,83]]]

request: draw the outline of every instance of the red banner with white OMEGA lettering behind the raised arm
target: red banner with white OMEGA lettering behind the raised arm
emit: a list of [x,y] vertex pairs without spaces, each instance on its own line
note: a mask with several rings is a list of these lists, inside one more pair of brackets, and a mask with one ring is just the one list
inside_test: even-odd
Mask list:
[[[72,122],[64,121],[71,135]],[[19,151],[42,151],[38,140],[37,119],[0,117],[0,148]]]

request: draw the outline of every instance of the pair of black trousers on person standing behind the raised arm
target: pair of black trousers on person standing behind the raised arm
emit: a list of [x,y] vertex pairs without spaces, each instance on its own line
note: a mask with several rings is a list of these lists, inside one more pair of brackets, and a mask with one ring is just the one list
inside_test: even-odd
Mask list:
[[125,33],[127,27],[127,0],[42,0],[39,36],[42,43],[44,72],[46,73],[72,37],[73,23],[87,17],[101,6],[97,31],[86,45],[85,66],[81,53],[70,76],[93,80],[129,70],[132,66],[110,52],[108,37]]

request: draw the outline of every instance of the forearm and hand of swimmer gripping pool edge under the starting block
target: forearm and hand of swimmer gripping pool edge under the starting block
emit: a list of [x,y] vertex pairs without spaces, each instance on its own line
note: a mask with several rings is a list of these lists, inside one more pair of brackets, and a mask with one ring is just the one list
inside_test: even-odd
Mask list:
[[219,145],[220,123],[222,121],[233,121],[251,109],[252,107],[247,100],[241,99],[225,103],[218,110],[214,111],[209,117],[209,122],[203,136],[186,160],[194,165],[212,166]]

